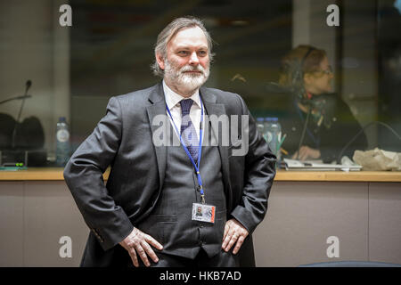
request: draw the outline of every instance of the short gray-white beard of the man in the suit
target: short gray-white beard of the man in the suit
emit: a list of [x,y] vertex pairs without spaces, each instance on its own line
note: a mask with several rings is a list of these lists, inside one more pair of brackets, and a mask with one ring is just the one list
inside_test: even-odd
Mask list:
[[[198,71],[198,72],[188,72]],[[174,62],[165,61],[164,77],[171,85],[174,85],[180,93],[191,96],[196,89],[201,87],[209,78],[209,66],[204,69],[201,65],[192,67],[185,65],[181,69],[176,68]]]

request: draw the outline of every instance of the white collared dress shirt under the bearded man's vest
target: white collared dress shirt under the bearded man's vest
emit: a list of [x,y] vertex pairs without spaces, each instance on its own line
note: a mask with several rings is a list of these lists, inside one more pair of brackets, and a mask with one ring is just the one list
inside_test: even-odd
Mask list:
[[[168,110],[170,110],[171,117],[174,119],[174,123],[176,124],[176,128],[178,129],[178,132],[181,130],[181,104],[180,101],[184,99],[192,99],[193,103],[191,106],[190,110],[190,118],[192,120],[192,124],[195,127],[196,134],[198,136],[198,141],[199,141],[199,136],[200,136],[200,123],[201,123],[201,99],[199,95],[199,89],[195,91],[194,94],[192,94],[191,97],[189,98],[184,98],[180,94],[176,94],[173,90],[171,90],[170,87],[164,82],[163,80],[163,90],[164,94],[166,96],[166,103],[168,105]],[[166,110],[166,113],[168,115],[168,111]],[[203,124],[202,126],[205,126],[205,107],[203,106]],[[168,115],[168,118],[170,116]],[[171,120],[171,125],[173,125],[173,129],[176,132],[176,128],[174,127],[173,121]],[[176,133],[177,134],[177,133]],[[177,134],[178,137],[180,134]],[[202,138],[203,141],[203,138]]]

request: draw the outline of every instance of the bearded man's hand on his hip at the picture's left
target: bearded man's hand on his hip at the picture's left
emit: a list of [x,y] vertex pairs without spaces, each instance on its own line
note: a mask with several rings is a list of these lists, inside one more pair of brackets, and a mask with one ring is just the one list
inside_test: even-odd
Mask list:
[[153,239],[149,234],[141,232],[137,228],[134,228],[127,238],[119,242],[119,245],[127,249],[135,267],[139,266],[136,253],[141,257],[144,265],[150,266],[151,263],[149,262],[148,256],[150,256],[151,260],[155,263],[159,261],[158,256],[156,256],[153,249],[151,249],[151,246],[159,250],[163,249],[163,246],[157,240]]

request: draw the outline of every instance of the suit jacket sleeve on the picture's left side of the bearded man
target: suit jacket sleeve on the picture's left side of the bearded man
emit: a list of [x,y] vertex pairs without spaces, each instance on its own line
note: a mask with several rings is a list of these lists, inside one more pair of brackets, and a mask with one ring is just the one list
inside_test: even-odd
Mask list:
[[104,250],[124,240],[134,228],[124,210],[110,196],[102,178],[119,151],[121,135],[121,109],[119,101],[112,97],[106,115],[64,168],[65,182]]

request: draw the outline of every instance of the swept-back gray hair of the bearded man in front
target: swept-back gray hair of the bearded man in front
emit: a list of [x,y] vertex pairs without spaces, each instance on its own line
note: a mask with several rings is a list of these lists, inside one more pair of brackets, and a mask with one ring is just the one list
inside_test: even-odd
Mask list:
[[[157,53],[160,53],[163,59],[166,59],[167,57],[167,46],[168,42],[176,36],[176,33],[180,31],[183,28],[193,28],[193,27],[199,27],[205,34],[205,37],[208,41],[208,50],[209,50],[209,62],[212,62],[214,54],[211,53],[212,49],[212,38],[209,35],[209,32],[206,30],[205,26],[203,25],[203,22],[195,17],[191,16],[186,16],[182,18],[176,18],[176,20],[173,20],[168,24],[166,28],[164,28],[159,36],[158,40],[156,42],[156,45],[154,47],[154,54],[156,57]],[[153,71],[153,74],[155,76],[159,77],[164,77],[164,70],[160,69],[158,61],[155,61],[151,64],[151,70]]]

